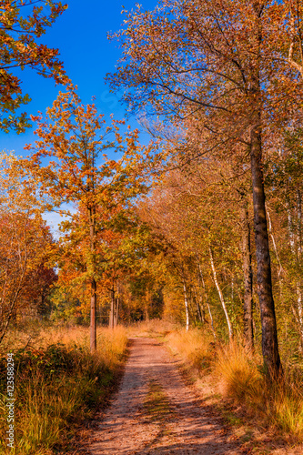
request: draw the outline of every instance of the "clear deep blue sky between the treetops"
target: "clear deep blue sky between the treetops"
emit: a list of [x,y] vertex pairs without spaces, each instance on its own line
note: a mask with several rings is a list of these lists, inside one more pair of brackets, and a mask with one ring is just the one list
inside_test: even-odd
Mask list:
[[[65,2],[63,2],[65,3]],[[135,0],[67,0],[68,8],[52,28],[46,31],[42,42],[60,51],[67,75],[78,86],[79,95],[84,103],[90,103],[96,96],[96,106],[100,113],[109,116],[113,113],[116,119],[124,118],[126,106],[121,106],[118,97],[110,94],[105,84],[106,73],[114,72],[116,61],[120,56],[115,41],[107,39],[107,33],[115,32],[123,23],[122,5],[130,10],[136,5]],[[153,9],[157,0],[141,0],[144,9]],[[45,113],[51,106],[58,91],[51,79],[37,76],[34,71],[25,69],[18,75],[23,81],[24,93],[28,93],[32,102],[23,106],[22,111],[35,115],[37,111]],[[62,89],[62,87],[61,87]],[[136,119],[128,122],[137,127]],[[0,133],[0,149],[14,150],[16,155],[27,155],[25,144],[33,143],[34,128],[25,134]],[[147,141],[143,135],[142,141]]]

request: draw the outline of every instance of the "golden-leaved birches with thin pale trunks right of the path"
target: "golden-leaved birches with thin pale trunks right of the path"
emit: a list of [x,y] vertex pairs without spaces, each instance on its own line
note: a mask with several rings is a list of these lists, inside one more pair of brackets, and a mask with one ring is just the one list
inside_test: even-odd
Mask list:
[[[139,205],[141,218],[164,239],[166,253],[159,260],[182,289],[187,328],[197,321],[205,323],[207,313],[213,325],[206,289],[210,278],[214,301],[220,302],[221,308],[216,303],[220,326],[227,324],[230,338],[233,331],[246,327],[241,320],[244,314],[247,324],[252,325],[252,308],[241,308],[246,270],[241,270],[239,244],[246,229],[241,222],[242,197],[237,187],[243,189],[243,180],[245,177],[233,175],[224,160],[201,158],[195,168],[167,172]],[[246,339],[251,346],[252,331]]]

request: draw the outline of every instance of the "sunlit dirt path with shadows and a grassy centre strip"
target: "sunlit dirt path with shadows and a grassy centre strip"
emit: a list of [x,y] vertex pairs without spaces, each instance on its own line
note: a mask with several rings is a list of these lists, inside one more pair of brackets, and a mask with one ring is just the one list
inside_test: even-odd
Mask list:
[[92,455],[243,453],[156,339],[133,339],[130,350],[116,399],[90,440]]

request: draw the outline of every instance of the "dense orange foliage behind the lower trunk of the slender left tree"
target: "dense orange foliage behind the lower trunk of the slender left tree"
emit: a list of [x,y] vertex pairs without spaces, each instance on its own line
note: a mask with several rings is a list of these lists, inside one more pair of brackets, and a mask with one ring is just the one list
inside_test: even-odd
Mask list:
[[[96,206],[96,282],[99,302],[108,299],[108,296],[111,301],[110,327],[116,326],[119,283],[131,273],[131,268],[138,267],[134,257],[138,258],[139,253],[137,248],[136,252],[133,248],[136,220],[132,212],[132,203],[123,187],[120,187],[119,197],[112,194],[110,203],[99,198]],[[70,219],[61,223],[57,258],[59,286],[74,287],[81,300],[84,298],[83,284],[87,279],[89,249],[85,224],[87,214],[83,207],[78,207]]]

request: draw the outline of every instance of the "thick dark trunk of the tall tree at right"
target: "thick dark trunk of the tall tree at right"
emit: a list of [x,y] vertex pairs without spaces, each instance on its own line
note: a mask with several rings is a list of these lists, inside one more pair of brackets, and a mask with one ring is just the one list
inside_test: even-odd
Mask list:
[[271,266],[268,242],[268,224],[265,206],[265,191],[262,163],[262,109],[260,61],[262,45],[261,12],[258,2],[254,4],[256,15],[256,57],[250,77],[250,163],[254,202],[254,227],[257,256],[257,290],[262,326],[262,354],[268,379],[278,379],[282,372],[278,353],[278,334],[275,304],[272,293]]

